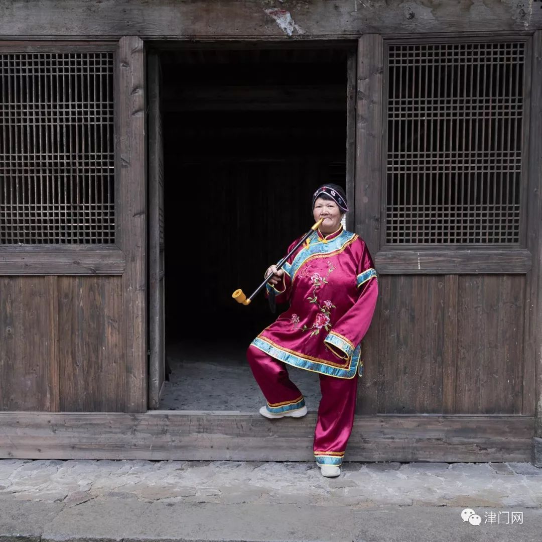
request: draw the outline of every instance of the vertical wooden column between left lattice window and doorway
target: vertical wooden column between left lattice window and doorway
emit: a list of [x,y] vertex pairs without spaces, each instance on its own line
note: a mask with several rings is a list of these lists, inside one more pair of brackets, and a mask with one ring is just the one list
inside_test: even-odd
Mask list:
[[119,41],[117,157],[118,243],[122,275],[126,412],[147,410],[145,54],[138,36]]

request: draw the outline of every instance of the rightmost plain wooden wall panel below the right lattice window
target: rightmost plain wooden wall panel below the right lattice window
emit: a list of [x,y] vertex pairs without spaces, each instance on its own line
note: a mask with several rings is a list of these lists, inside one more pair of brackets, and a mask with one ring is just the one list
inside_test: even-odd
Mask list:
[[524,300],[524,276],[459,277],[456,413],[521,413]]

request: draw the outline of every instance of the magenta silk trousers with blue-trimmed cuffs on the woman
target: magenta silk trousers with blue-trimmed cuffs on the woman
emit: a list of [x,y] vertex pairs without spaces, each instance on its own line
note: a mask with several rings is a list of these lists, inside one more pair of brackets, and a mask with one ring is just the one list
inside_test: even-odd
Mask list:
[[[267,400],[269,412],[281,413],[305,406],[305,398],[290,380],[286,364],[255,346],[247,359]],[[318,464],[340,465],[352,432],[358,377],[337,378],[319,374],[322,398],[314,431],[314,455]]]

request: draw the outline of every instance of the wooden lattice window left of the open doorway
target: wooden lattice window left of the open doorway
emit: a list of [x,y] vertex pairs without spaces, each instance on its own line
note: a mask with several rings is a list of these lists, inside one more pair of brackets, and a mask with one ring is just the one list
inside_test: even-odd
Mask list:
[[112,52],[0,54],[0,244],[114,243]]

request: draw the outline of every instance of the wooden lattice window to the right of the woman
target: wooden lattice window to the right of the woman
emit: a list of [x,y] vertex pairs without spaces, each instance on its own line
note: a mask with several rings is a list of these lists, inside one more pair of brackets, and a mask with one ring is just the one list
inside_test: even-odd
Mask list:
[[519,244],[524,42],[392,44],[385,241]]

